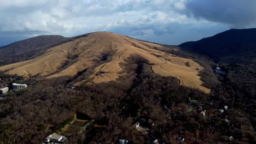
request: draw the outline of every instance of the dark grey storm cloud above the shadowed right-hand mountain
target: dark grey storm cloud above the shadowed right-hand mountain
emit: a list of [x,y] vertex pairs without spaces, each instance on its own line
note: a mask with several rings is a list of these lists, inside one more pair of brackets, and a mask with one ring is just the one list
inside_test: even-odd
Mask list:
[[229,24],[232,28],[256,26],[255,0],[197,0],[186,3],[187,15]]

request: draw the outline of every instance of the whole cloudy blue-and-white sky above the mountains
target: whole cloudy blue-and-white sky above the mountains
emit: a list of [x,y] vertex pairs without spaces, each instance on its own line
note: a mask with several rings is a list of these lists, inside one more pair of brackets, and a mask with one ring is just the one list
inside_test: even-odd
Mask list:
[[178,45],[256,27],[255,0],[0,0],[0,45],[37,35],[109,31]]

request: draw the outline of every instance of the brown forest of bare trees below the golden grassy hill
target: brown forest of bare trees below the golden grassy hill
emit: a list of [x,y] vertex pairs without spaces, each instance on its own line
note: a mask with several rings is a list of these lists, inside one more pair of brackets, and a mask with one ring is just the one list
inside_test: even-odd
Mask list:
[[[28,89],[10,92],[0,100],[0,143],[42,143],[56,125],[75,113],[84,113],[104,127],[68,137],[68,143],[115,143],[119,139],[150,143],[149,135],[165,143],[179,142],[178,137],[187,143],[255,143],[255,104],[248,103],[255,100],[254,85],[245,88],[227,75],[211,94],[205,94],[179,86],[174,77],[152,73],[141,57],[131,57],[124,65],[129,73],[118,81],[76,89],[66,87],[70,77],[16,79],[1,73],[1,79],[27,83]],[[189,98],[204,105],[205,116],[187,111]],[[225,105],[229,106],[223,114],[228,123],[222,116],[211,116],[211,111]],[[142,111],[147,115],[142,116]],[[136,122],[149,128],[149,134],[133,128]]]

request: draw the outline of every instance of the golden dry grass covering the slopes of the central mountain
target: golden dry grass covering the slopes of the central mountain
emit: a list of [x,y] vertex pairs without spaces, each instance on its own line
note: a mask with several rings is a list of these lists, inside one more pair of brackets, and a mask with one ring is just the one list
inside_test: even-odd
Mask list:
[[[89,34],[88,37],[51,47],[43,55],[29,61],[5,65],[0,67],[0,70],[26,76],[40,73],[48,79],[75,76],[79,71],[88,69],[101,61],[102,53],[113,53],[112,61],[98,65],[94,68],[94,73],[89,76],[92,83],[101,83],[116,80],[124,75],[123,66],[120,63],[124,63],[125,59],[131,55],[139,55],[148,59],[154,73],[174,76],[181,85],[198,88],[206,93],[210,92],[210,89],[201,86],[202,81],[198,74],[203,68],[198,63],[153,49],[153,47],[162,50],[170,49],[167,46],[146,43],[119,34],[96,32]],[[68,65],[67,62],[69,62]],[[185,64],[186,62],[189,62],[190,67]],[[104,75],[98,75],[98,72]]]

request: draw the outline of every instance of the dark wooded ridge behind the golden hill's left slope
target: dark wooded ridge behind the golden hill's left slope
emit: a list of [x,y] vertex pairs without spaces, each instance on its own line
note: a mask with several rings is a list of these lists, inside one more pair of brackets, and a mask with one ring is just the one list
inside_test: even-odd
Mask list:
[[42,55],[50,47],[57,46],[88,34],[65,38],[61,35],[40,35],[0,47],[0,66],[26,61]]

